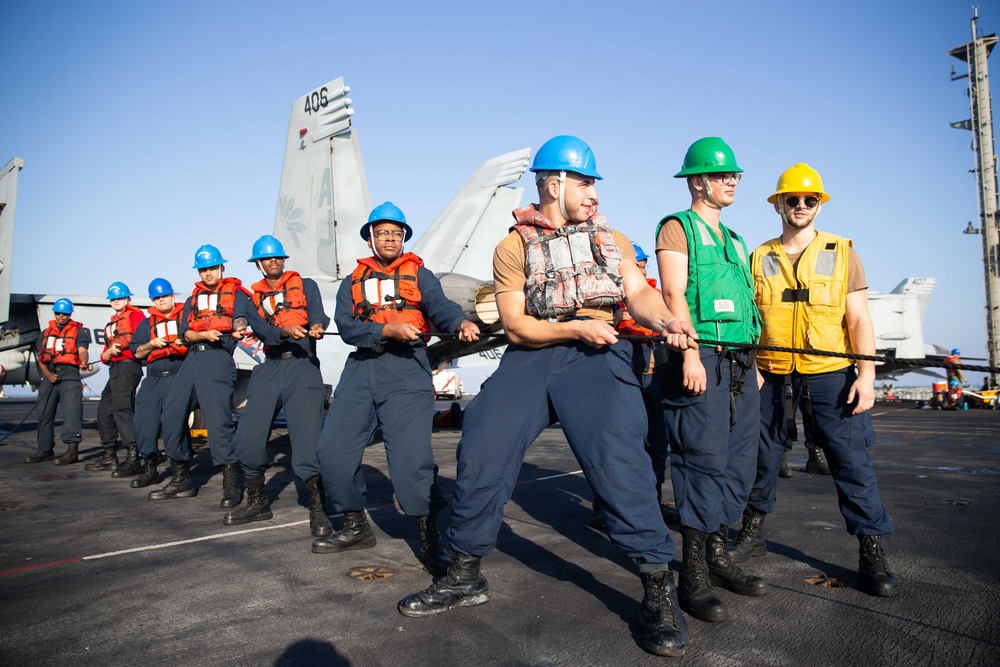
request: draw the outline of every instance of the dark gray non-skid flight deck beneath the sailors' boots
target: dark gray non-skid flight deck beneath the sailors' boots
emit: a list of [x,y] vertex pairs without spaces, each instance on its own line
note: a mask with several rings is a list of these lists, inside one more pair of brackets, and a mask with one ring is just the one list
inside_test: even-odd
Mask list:
[[[31,405],[0,401],[0,423],[12,428]],[[88,460],[99,449],[94,409],[88,403]],[[765,525],[771,553],[745,564],[773,592],[759,599],[723,592],[731,619],[689,619],[687,655],[672,662],[1000,663],[1000,413],[876,405],[873,415],[879,485],[897,530],[887,551],[898,597],[872,598],[855,587],[857,542],[844,531],[832,480],[807,475],[796,444],[795,475],[780,480],[778,508]],[[307,496],[288,468],[283,430],[271,441],[274,520],[227,527],[207,447],[195,457],[199,495],[154,503],[148,489],[85,473],[83,462],[23,464],[35,448],[35,423],[32,415],[0,445],[0,664],[671,662],[641,647],[639,579],[587,525],[590,489],[558,428],[529,449],[497,551],[483,561],[492,600],[409,619],[396,602],[431,577],[414,555],[415,520],[392,507],[380,444],[364,461],[377,546],[315,555]],[[458,438],[434,435],[446,493]],[[352,568],[394,574],[358,579]],[[845,586],[807,583],[816,573]]]

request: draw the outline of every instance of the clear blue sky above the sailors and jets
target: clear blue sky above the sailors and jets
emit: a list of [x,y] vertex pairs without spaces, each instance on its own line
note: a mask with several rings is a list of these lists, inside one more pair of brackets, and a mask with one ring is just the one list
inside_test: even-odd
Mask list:
[[[980,13],[995,32],[1000,3]],[[651,249],[688,204],[671,178],[684,151],[719,135],[746,171],[723,219],[751,247],[780,231],[778,174],[808,162],[832,195],[819,227],[854,239],[871,289],[936,278],[928,342],[981,357],[981,238],[961,234],[978,224],[971,134],[948,126],[969,116],[948,76],[965,66],[945,53],[971,15],[929,0],[0,0],[0,163],[25,161],[13,289],[187,289],[203,243],[253,278],[291,103],[343,76],[372,202],[418,233],[482,161],[570,133],[595,151],[602,211]]]

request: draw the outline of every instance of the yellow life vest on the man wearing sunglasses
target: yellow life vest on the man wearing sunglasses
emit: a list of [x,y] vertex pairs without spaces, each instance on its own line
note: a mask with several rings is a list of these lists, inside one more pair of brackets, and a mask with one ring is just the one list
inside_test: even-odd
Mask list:
[[[780,238],[754,251],[754,300],[763,320],[761,345],[851,352],[845,318],[851,245],[850,239],[817,232],[795,268]],[[761,370],[781,375],[827,373],[853,363],[840,357],[757,352]]]

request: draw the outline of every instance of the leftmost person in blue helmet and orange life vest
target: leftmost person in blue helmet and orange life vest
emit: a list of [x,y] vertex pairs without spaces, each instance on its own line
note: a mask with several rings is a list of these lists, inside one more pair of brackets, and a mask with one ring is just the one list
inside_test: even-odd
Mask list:
[[52,304],[53,318],[38,341],[35,361],[42,376],[38,388],[38,451],[25,459],[25,463],[39,463],[52,459],[55,446],[56,408],[62,404],[63,427],[60,437],[66,451],[55,459],[56,465],[76,463],[79,458],[80,440],[83,438],[83,383],[82,369],[90,368],[87,346],[90,332],[74,321],[73,302],[57,299]]

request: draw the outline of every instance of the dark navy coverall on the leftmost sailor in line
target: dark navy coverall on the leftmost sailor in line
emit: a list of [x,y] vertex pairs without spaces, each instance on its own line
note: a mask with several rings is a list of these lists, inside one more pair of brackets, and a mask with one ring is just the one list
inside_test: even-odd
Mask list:
[[[41,354],[45,340],[38,341],[36,356]],[[76,346],[88,347],[90,332],[81,326],[76,332]],[[59,382],[52,384],[42,378],[38,388],[38,451],[51,452],[55,446],[56,408],[62,404],[63,426],[60,439],[67,445],[79,443],[83,439],[83,382],[80,367],[73,364],[57,364],[51,367]]]

